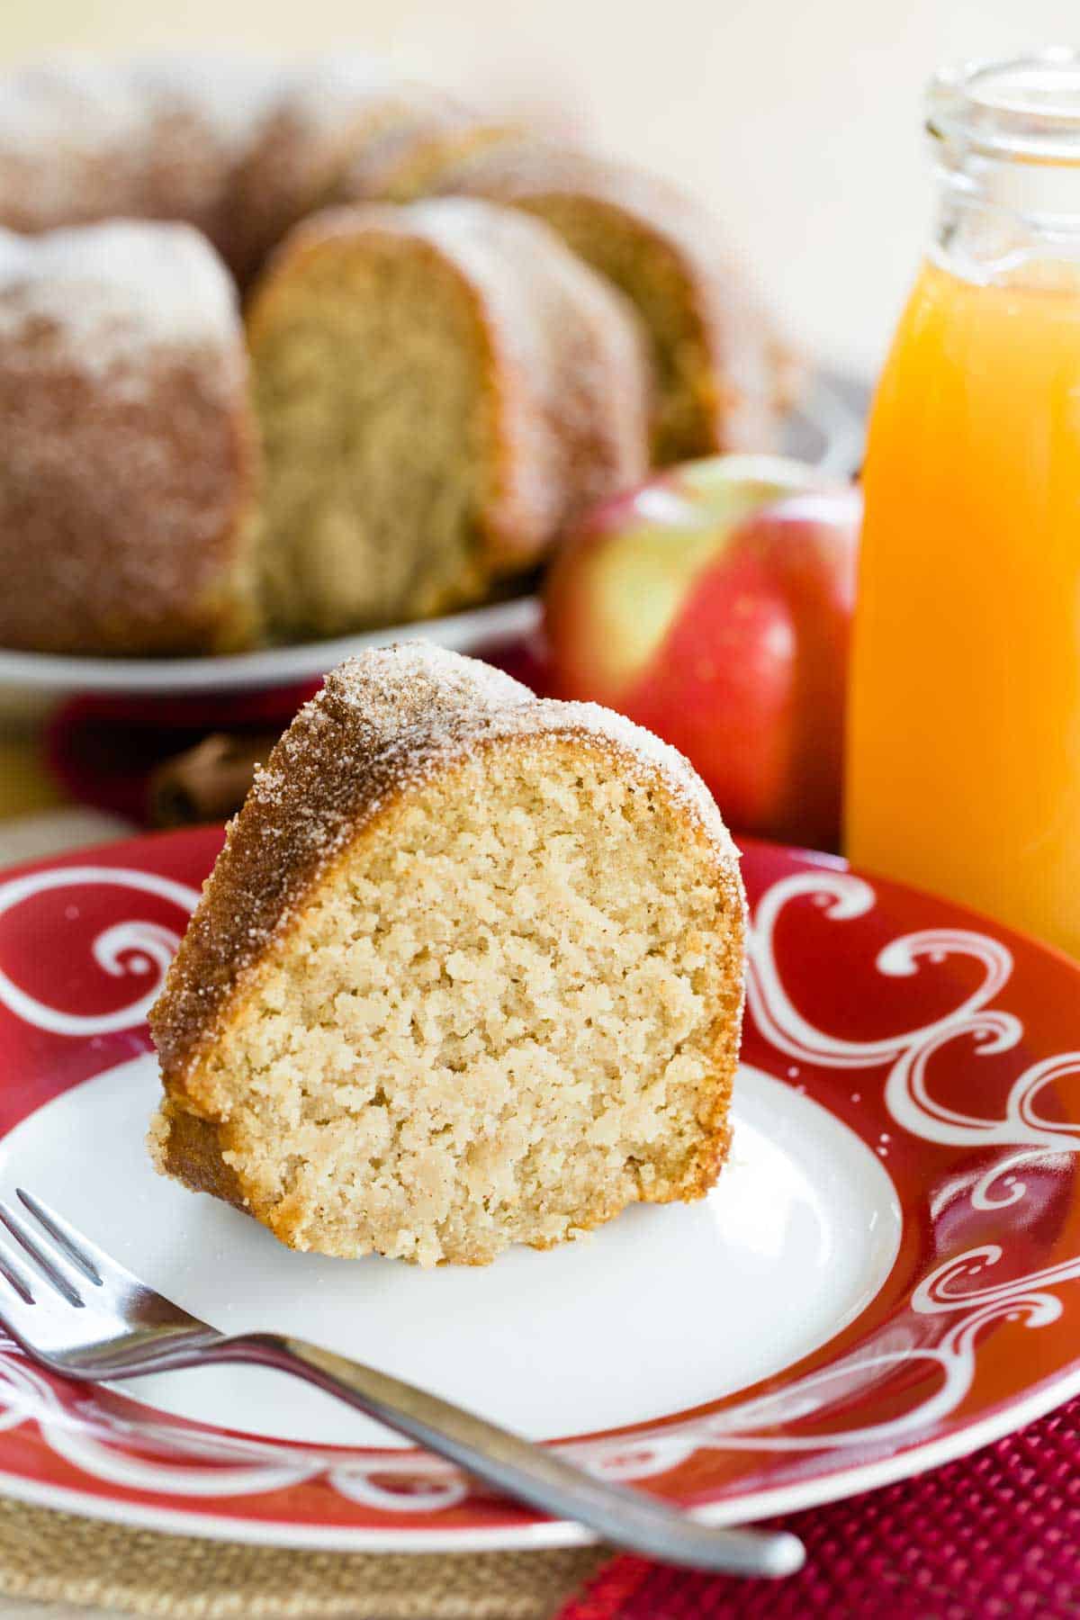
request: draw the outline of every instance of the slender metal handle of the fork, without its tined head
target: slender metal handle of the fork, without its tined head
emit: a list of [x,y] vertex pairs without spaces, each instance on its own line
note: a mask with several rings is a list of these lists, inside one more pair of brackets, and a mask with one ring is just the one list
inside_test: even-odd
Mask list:
[[[787,1531],[701,1524],[656,1497],[586,1474],[551,1447],[301,1338],[244,1333],[219,1340],[209,1358],[293,1372],[495,1490],[644,1557],[727,1575],[793,1575],[803,1563],[803,1544]],[[199,1359],[207,1359],[206,1348]]]

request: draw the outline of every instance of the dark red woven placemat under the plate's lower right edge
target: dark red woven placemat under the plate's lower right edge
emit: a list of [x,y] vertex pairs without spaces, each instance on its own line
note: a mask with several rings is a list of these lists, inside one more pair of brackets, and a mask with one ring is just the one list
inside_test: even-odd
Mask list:
[[1080,1400],[959,1463],[774,1523],[806,1547],[785,1581],[615,1558],[559,1620],[1075,1620]]

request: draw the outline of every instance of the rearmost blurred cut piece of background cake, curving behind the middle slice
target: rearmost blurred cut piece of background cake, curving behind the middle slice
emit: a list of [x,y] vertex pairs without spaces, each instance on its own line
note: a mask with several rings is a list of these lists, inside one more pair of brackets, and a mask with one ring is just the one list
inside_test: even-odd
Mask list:
[[789,371],[712,215],[691,198],[627,164],[528,138],[429,159],[419,190],[526,209],[631,301],[656,374],[657,465],[772,442]]

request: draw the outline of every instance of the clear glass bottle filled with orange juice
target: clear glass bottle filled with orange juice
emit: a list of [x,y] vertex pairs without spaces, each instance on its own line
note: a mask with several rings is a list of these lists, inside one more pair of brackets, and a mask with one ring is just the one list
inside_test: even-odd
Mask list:
[[1080,55],[934,81],[874,400],[847,847],[1080,956]]

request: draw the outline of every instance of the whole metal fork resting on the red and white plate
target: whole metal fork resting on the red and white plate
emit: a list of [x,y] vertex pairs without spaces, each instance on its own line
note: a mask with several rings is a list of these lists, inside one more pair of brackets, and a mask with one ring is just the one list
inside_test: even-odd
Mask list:
[[282,1333],[223,1335],[141,1283],[62,1215],[18,1187],[26,1215],[0,1200],[0,1221],[32,1270],[0,1241],[0,1322],[28,1356],[89,1382],[243,1361],[277,1367],[356,1406],[495,1490],[649,1558],[729,1575],[792,1575],[803,1562],[784,1531],[717,1529],[638,1490],[607,1484],[549,1447]]

